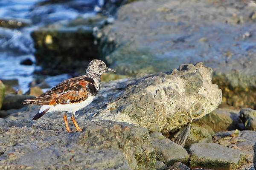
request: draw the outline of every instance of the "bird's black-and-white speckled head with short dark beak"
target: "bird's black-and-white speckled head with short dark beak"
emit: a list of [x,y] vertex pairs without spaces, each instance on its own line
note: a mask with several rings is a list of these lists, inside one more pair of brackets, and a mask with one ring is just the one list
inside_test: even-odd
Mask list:
[[86,69],[86,74],[87,75],[91,75],[91,74],[96,74],[96,75],[101,75],[102,73],[106,72],[106,71],[114,71],[115,70],[108,68],[105,64],[105,62],[99,60],[99,59],[93,59],[93,61],[91,61],[88,64],[88,67]]

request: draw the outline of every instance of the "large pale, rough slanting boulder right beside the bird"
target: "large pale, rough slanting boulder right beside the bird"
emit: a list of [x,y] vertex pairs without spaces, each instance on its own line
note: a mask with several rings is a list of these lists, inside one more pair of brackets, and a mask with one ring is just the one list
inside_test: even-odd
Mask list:
[[212,69],[198,63],[180,65],[179,70],[172,72],[104,84],[97,105],[84,109],[81,117],[169,132],[218,107],[222,92],[211,80]]

